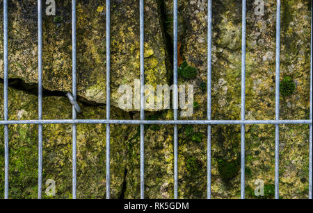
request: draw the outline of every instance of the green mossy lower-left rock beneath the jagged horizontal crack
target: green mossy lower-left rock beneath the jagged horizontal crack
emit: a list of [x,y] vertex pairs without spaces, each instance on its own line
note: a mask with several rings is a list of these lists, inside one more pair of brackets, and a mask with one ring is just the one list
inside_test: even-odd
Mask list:
[[[0,85],[3,90],[3,85]],[[9,119],[37,119],[37,96],[15,89],[8,90]],[[0,97],[3,102],[3,95]],[[104,119],[105,107],[81,105],[79,119]],[[43,99],[43,119],[71,119],[72,105],[65,97]],[[3,105],[0,106],[3,114]],[[112,119],[129,115],[112,108]],[[2,116],[1,116],[2,117]],[[3,119],[3,117],[1,118]],[[4,164],[3,125],[0,126],[0,162]],[[111,197],[123,196],[125,171],[129,161],[125,139],[131,137],[133,126],[111,126]],[[10,198],[36,198],[38,184],[38,125],[9,126]],[[72,125],[45,124],[42,139],[42,195],[47,198],[45,182],[56,182],[56,196],[72,196]],[[1,169],[0,191],[4,190],[4,167]],[[3,198],[3,193],[1,193]],[[77,197],[106,197],[106,126],[105,124],[77,125]]]

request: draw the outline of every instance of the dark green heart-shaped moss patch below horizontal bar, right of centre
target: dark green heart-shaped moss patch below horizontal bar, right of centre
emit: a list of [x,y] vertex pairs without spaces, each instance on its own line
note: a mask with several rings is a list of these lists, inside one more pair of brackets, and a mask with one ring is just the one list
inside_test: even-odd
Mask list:
[[239,169],[239,161],[238,160],[232,160],[232,161],[226,161],[223,159],[218,159],[218,171],[220,173],[220,176],[224,182],[229,182],[234,178]]

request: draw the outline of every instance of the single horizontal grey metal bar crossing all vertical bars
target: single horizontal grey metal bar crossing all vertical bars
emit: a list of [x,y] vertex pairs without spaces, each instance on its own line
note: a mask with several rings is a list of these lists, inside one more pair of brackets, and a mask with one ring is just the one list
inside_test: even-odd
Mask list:
[[56,120],[10,120],[0,121],[0,125],[13,124],[56,124],[56,123],[112,123],[112,124],[160,124],[160,125],[218,125],[218,124],[312,124],[312,120],[177,120],[177,121],[151,121],[151,120],[108,120],[108,119],[56,119]]

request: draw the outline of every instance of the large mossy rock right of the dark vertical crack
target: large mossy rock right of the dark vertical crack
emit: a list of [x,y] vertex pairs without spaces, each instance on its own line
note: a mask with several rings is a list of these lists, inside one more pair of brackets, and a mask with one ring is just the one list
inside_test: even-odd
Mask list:
[[[275,12],[274,0],[264,1],[264,15],[247,5],[246,119],[275,119]],[[179,1],[178,42],[188,65],[198,69],[194,79],[179,77],[179,84],[195,85],[193,119],[206,119],[207,1]],[[172,1],[166,1],[168,16]],[[283,1],[281,33],[281,119],[308,119],[310,106],[310,23],[308,1]],[[240,119],[241,109],[241,1],[213,1],[212,119]],[[172,22],[168,24],[172,34]],[[288,82],[291,77],[291,84]],[[296,86],[293,91],[292,87]],[[289,87],[290,86],[290,87]],[[291,89],[290,89],[291,88]],[[190,118],[189,118],[190,119]],[[280,196],[307,198],[308,126],[280,126]],[[206,128],[195,132],[206,135]],[[273,198],[273,126],[246,126],[246,196],[255,197],[255,180],[264,180],[266,196]],[[240,126],[212,127],[212,197],[240,197]],[[206,164],[206,139],[198,148],[179,137],[181,156],[190,153]],[[179,159],[181,160],[181,159]],[[189,160],[190,162],[191,160]],[[188,160],[185,160],[188,162]],[[204,167],[205,168],[205,167]],[[204,169],[203,168],[203,169]],[[206,176],[184,178],[179,173],[179,197],[205,198]],[[201,175],[201,176],[199,176]],[[202,176],[203,175],[203,176]],[[191,191],[198,190],[198,194]]]

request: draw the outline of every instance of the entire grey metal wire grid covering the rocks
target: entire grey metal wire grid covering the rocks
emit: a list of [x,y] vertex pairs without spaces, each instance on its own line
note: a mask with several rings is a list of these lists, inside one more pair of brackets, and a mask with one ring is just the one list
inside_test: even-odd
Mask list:
[[[174,25],[174,105],[178,102],[177,92],[177,0],[173,0]],[[276,70],[275,70],[275,120],[246,120],[245,119],[245,90],[246,90],[246,0],[242,0],[242,44],[241,44],[241,120],[211,120],[211,19],[212,6],[208,0],[208,33],[207,33],[207,120],[178,120],[177,109],[174,109],[172,121],[145,120],[144,111],[144,9],[143,0],[140,3],[140,63],[141,63],[141,119],[140,120],[112,120],[110,119],[110,0],[106,0],[106,119],[77,119],[77,46],[76,46],[76,1],[72,1],[72,119],[42,119],[42,1],[38,0],[38,120],[8,120],[8,0],[3,0],[3,60],[4,60],[4,146],[5,146],[5,191],[8,199],[9,155],[8,155],[8,125],[38,124],[38,198],[42,198],[42,124],[71,123],[72,124],[72,198],[77,196],[77,123],[106,124],[106,198],[110,198],[110,124],[140,124],[141,126],[141,198],[144,194],[144,125],[174,125],[174,198],[178,198],[177,183],[177,125],[202,124],[207,125],[207,198],[211,198],[211,125],[240,124],[241,125],[241,198],[245,198],[245,125],[272,124],[275,125],[275,198],[279,198],[279,126],[280,124],[308,124],[310,125],[309,152],[309,198],[312,199],[312,19],[311,19],[311,67],[310,67],[310,119],[309,120],[280,120],[280,0],[277,0],[276,10]],[[311,14],[312,16],[312,14]]]

